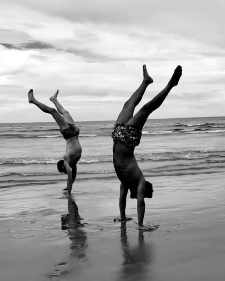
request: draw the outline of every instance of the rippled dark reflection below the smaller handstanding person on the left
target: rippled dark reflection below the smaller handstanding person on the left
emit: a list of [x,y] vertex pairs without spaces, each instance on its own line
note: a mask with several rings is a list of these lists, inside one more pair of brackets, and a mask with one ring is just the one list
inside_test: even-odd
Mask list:
[[62,215],[62,229],[67,229],[67,234],[71,241],[71,258],[79,258],[79,263],[84,263],[87,259],[85,256],[87,248],[87,236],[82,230],[84,224],[81,223],[82,218],[78,213],[78,207],[72,197],[68,197],[68,212],[69,214]]

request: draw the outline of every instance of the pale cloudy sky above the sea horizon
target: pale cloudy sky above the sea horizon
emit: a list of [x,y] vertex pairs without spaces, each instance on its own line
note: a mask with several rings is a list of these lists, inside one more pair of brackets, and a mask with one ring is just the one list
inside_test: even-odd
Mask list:
[[143,79],[136,111],[183,75],[150,118],[224,116],[225,1],[1,0],[0,123],[48,122],[27,92],[76,121],[116,120]]

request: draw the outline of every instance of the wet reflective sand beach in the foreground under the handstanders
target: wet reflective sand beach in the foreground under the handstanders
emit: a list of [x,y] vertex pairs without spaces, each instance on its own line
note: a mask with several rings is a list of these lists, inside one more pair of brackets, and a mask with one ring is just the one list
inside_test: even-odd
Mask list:
[[146,200],[145,222],[160,225],[152,233],[136,229],[136,200],[127,202],[133,220],[114,223],[116,178],[78,177],[75,203],[63,195],[62,182],[2,188],[1,281],[222,281],[224,177],[150,179],[155,192]]

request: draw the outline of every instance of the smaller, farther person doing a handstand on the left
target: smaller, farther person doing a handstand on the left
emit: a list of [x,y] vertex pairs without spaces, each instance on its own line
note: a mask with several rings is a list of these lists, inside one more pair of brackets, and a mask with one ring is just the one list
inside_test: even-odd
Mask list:
[[29,103],[35,104],[43,112],[49,113],[53,116],[56,123],[60,127],[60,132],[66,140],[66,151],[63,160],[57,162],[59,172],[67,174],[67,190],[68,195],[71,195],[72,184],[74,183],[77,175],[77,162],[79,161],[82,153],[82,148],[79,143],[79,128],[75,126],[69,112],[66,111],[61,104],[57,101],[58,90],[50,97],[50,101],[55,104],[55,108],[49,107],[37,101],[33,96],[33,90],[28,92]]

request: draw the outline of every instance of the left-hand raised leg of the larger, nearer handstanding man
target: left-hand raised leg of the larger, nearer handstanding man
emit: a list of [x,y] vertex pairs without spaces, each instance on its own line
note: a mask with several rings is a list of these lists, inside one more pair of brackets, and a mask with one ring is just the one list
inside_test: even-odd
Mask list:
[[143,65],[143,81],[140,87],[133,93],[128,101],[125,102],[116,123],[127,123],[133,117],[135,107],[139,104],[146,88],[151,83],[153,83],[153,79],[148,75],[146,65]]

